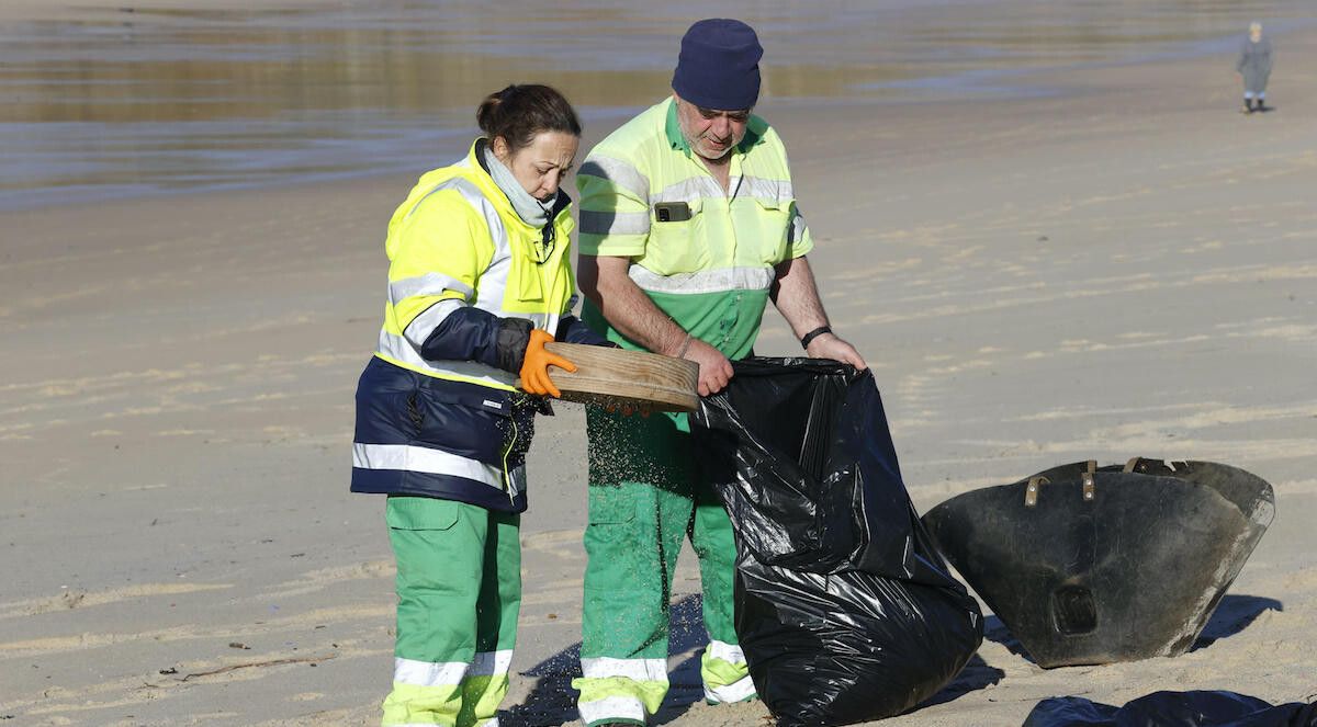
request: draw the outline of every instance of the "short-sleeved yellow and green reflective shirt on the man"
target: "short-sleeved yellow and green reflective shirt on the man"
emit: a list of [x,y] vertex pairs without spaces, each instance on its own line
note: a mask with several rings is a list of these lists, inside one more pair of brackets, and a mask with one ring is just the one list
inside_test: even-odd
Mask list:
[[[773,267],[814,242],[795,207],[786,150],[763,119],[751,116],[730,176],[723,192],[682,137],[669,97],[611,133],[581,165],[578,240],[582,254],[631,258],[631,279],[658,310],[736,360],[759,336]],[[582,319],[611,341],[643,348],[589,300]]]

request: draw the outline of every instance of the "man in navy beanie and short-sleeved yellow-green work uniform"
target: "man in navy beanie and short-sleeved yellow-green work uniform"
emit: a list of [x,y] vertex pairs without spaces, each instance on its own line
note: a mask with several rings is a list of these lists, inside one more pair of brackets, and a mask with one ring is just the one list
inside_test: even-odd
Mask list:
[[[695,22],[672,97],[603,140],[577,174],[583,320],[623,348],[699,364],[701,395],[752,354],[769,300],[809,356],[865,366],[828,327],[782,141],[751,113],[763,53],[744,22]],[[731,523],[693,469],[686,415],[590,408],[587,423],[582,722],[644,724],[658,710],[685,537],[703,586],[705,698],[756,697],[732,624]]]

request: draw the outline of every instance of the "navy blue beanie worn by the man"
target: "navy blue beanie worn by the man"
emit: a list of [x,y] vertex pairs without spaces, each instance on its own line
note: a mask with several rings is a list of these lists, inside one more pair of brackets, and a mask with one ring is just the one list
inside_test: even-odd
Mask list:
[[755,29],[739,20],[710,18],[681,38],[672,90],[701,108],[740,111],[759,100],[759,45]]

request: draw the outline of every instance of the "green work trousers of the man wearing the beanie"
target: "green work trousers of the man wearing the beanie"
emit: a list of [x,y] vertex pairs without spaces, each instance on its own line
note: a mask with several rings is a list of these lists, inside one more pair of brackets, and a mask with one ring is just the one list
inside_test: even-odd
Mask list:
[[672,578],[682,540],[699,558],[709,648],[705,698],[755,697],[736,645],[731,522],[699,482],[685,415],[587,410],[590,518],[581,644],[581,720],[644,724],[668,693]]

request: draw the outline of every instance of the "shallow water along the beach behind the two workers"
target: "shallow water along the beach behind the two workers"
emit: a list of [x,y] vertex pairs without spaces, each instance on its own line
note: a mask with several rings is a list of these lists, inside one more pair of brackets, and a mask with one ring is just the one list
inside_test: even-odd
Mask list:
[[[130,0],[125,0],[130,3]],[[179,0],[186,5],[186,0]],[[565,91],[611,126],[668,91],[705,3],[337,3],[0,25],[0,209],[252,187],[460,155],[479,100]],[[498,16],[491,14],[497,8]],[[906,103],[1065,92],[1030,71],[1230,50],[1301,1],[880,0],[719,5],[760,33],[764,99]]]

